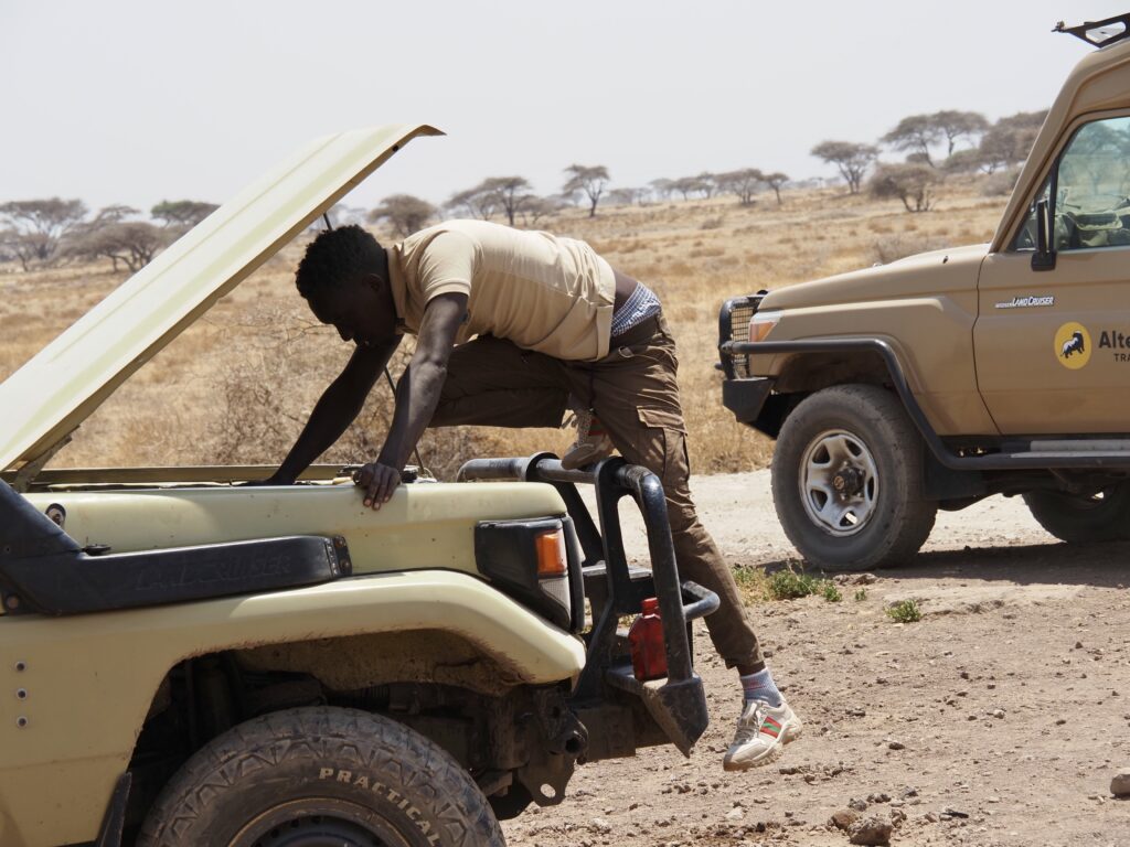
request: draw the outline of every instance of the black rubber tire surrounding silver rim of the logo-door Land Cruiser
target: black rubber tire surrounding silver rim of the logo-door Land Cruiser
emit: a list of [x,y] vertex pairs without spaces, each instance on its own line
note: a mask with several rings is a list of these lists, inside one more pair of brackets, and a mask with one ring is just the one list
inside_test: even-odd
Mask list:
[[[875,466],[869,517],[836,535],[810,517],[801,494],[806,455],[824,434],[866,445]],[[785,419],[773,454],[773,501],[789,540],[825,570],[869,570],[912,558],[933,529],[938,504],[922,487],[924,445],[897,396],[877,385],[837,385],[806,398]]]

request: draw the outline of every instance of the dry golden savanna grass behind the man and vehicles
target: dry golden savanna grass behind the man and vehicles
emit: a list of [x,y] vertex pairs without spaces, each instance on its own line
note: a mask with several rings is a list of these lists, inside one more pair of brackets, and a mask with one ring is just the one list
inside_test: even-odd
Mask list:
[[[1006,198],[986,195],[986,180],[992,177],[950,178],[936,208],[920,215],[906,213],[897,200],[811,189],[784,192],[781,206],[763,193],[751,207],[727,197],[601,207],[594,218],[571,209],[539,227],[586,239],[654,288],[679,346],[693,466],[698,473],[744,471],[764,466],[772,443],[721,407],[713,364],[722,300],[921,250],[988,241]],[[52,466],[279,462],[351,349],[313,320],[294,289],[306,238],[267,262],[122,385]],[[16,263],[0,265],[0,379],[127,276],[108,262],[28,272]],[[394,373],[403,359],[402,350]],[[371,461],[390,412],[390,390],[381,384],[324,461]],[[570,439],[557,430],[435,430],[420,451],[437,475],[450,478],[466,459],[560,452]]]

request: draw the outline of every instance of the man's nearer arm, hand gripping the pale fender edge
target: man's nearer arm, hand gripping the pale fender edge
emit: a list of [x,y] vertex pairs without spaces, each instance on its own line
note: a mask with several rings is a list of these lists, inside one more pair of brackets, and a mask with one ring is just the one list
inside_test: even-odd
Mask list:
[[384,447],[376,461],[358,474],[357,484],[365,489],[366,506],[381,508],[400,484],[400,472],[440,403],[447,359],[466,314],[466,294],[442,294],[428,300],[416,352],[397,385],[397,410]]

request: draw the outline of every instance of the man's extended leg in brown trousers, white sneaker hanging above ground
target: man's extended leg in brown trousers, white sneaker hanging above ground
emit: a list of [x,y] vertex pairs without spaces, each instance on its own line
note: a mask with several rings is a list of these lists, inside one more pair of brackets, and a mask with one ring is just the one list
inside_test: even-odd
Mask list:
[[624,457],[662,481],[680,577],[710,588],[721,600],[719,610],[707,615],[706,627],[727,666],[738,669],[747,693],[738,739],[725,758],[728,769],[742,769],[780,756],[781,744],[799,734],[800,722],[780,699],[733,573],[698,521],[688,484],[677,369],[675,343],[660,320],[658,331],[638,328],[614,339],[606,359],[576,366],[571,376],[574,392],[584,396],[588,390],[597,417]]

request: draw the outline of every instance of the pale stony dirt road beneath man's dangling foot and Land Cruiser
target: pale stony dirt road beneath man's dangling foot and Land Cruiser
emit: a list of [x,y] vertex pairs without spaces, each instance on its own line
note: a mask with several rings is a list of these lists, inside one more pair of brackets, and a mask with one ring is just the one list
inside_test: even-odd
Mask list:
[[[734,564],[796,556],[767,472],[695,482]],[[699,631],[711,727],[690,759],[644,750],[581,768],[560,806],[505,824],[508,841],[846,845],[828,821],[857,801],[896,822],[893,845],[1130,844],[1130,803],[1109,793],[1130,767],[1128,561],[1130,544],[1057,542],[1018,498],[941,513],[918,559],[852,578],[842,602],[754,610],[806,723],[782,759],[722,770],[740,695]],[[894,623],[884,610],[906,597],[925,617]]]

